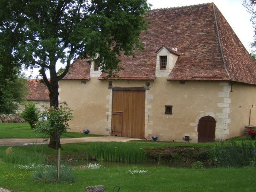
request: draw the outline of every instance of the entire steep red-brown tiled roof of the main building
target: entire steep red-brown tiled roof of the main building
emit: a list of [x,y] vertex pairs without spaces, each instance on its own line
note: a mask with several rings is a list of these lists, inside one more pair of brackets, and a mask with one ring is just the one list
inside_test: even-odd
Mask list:
[[[165,46],[180,55],[168,80],[224,80],[256,84],[256,66],[214,3],[151,10],[144,50],[122,55],[121,79],[155,79],[157,51]],[[177,52],[172,48],[177,48]],[[75,65],[75,64],[74,64]],[[90,70],[83,72],[89,78]],[[81,71],[77,73],[81,76]],[[70,79],[77,79],[73,73]],[[99,79],[104,79],[102,74]],[[117,78],[112,78],[117,79]]]

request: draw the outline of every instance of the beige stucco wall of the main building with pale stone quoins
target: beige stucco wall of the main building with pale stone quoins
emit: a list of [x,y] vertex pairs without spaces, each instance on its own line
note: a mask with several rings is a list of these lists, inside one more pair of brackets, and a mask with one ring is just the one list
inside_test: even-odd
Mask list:
[[[256,86],[231,84],[224,81],[112,81],[114,87],[145,87],[145,137],[157,135],[160,140],[182,141],[189,136],[197,142],[198,121],[203,116],[216,120],[216,139],[241,135],[249,120],[249,112]],[[71,131],[90,129],[92,134],[110,134],[112,90],[108,81],[91,78],[88,81],[62,80],[59,82],[60,101],[74,110]],[[165,115],[165,105],[172,105],[172,115]],[[239,108],[241,106],[241,108]],[[239,109],[239,110],[237,110]],[[251,119],[253,119],[251,117]],[[253,120],[251,120],[253,121]],[[256,121],[255,121],[256,122]]]

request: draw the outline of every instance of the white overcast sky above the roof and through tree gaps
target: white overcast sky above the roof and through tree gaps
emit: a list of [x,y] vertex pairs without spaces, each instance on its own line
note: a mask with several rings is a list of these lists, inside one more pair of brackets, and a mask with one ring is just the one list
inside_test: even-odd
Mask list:
[[[243,0],[148,0],[151,9],[169,8],[197,5],[201,3],[215,3],[218,9],[226,18],[227,22],[233,28],[244,47],[250,52],[250,43],[253,41],[254,29],[250,21],[251,15],[242,6]],[[57,65],[57,68],[61,65]],[[25,72],[25,71],[24,71]],[[26,72],[27,76],[31,74],[31,70]],[[32,77],[38,75],[38,69],[34,69]],[[49,73],[47,73],[49,78]]]

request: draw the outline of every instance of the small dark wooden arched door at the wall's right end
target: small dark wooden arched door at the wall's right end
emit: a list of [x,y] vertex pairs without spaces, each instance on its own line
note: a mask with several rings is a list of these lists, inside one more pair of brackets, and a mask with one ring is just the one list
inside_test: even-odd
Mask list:
[[216,121],[212,116],[204,116],[198,122],[198,143],[215,141]]

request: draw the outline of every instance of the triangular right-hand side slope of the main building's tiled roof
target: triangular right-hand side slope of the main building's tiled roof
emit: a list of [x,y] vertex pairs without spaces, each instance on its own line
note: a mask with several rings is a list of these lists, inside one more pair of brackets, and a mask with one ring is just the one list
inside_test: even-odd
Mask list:
[[231,81],[256,84],[256,63],[214,5],[224,65]]

